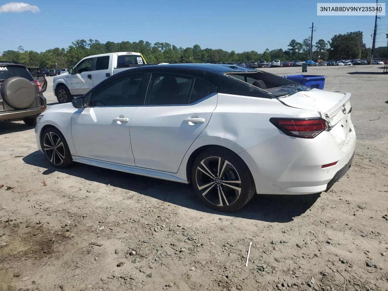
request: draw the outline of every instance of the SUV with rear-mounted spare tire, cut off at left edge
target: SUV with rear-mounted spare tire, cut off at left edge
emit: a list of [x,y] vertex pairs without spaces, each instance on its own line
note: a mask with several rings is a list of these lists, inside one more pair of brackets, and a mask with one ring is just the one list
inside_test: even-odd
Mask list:
[[42,85],[34,80],[26,66],[17,62],[0,62],[0,120],[23,120],[36,125],[36,117],[45,111]]

